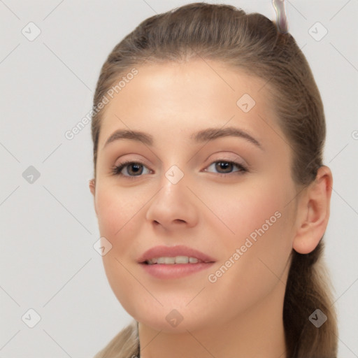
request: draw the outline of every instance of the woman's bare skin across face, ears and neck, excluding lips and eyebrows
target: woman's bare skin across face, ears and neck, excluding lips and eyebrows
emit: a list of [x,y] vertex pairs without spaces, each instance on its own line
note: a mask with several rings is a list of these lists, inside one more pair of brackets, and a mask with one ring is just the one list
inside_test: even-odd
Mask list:
[[[308,253],[322,238],[331,171],[320,168],[303,190],[293,182],[292,152],[264,80],[201,59],[136,68],[138,75],[103,112],[90,190],[100,234],[113,245],[103,256],[106,275],[139,322],[141,357],[285,357],[282,307],[290,253]],[[256,102],[248,113],[236,105],[245,93]],[[194,143],[191,135],[208,127],[236,127],[262,148],[234,136]],[[116,129],[144,131],[154,145],[122,139],[103,148]],[[128,166],[122,177],[111,173],[124,159],[143,163],[143,173],[136,176]],[[220,160],[245,164],[248,171],[215,166]],[[173,165],[184,174],[176,184],[165,176]],[[208,275],[277,212],[280,218],[210,282]],[[159,280],[136,261],[156,245],[187,245],[215,264]],[[183,318],[176,327],[166,321],[173,309]]]

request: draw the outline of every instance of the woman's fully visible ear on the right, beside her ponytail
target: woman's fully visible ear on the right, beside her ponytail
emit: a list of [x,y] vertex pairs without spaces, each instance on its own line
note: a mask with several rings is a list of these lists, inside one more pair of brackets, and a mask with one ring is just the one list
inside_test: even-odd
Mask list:
[[315,250],[326,231],[329,219],[333,178],[327,166],[321,166],[312,182],[299,199],[299,222],[293,248],[300,254]]

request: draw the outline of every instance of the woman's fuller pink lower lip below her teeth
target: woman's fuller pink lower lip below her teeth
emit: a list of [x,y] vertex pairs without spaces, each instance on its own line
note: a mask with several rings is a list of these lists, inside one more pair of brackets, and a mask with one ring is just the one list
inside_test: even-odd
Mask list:
[[150,275],[161,279],[181,278],[192,273],[206,270],[213,266],[213,262],[198,264],[141,264]]

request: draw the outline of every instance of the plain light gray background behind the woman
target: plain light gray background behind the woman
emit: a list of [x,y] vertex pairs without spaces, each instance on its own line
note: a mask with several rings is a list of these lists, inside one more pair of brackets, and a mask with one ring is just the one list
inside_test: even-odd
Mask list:
[[[72,141],[64,133],[90,110],[114,45],[146,17],[188,2],[0,0],[0,358],[93,357],[131,320],[93,248],[90,124]],[[227,3],[275,18],[270,0]],[[291,0],[286,10],[324,101],[339,357],[358,357],[358,1]],[[22,34],[34,34],[29,22],[41,29],[34,41]],[[308,33],[316,22],[328,30],[321,41]],[[32,184],[22,177],[29,166],[41,173]],[[24,323],[35,320],[30,308],[41,316],[34,328]]]

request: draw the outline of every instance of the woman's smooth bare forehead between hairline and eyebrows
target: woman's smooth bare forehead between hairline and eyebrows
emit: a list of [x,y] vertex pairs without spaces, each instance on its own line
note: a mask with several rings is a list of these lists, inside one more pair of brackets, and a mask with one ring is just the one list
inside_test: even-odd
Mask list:
[[166,136],[229,123],[258,137],[265,121],[277,127],[266,80],[240,69],[195,59],[146,64],[136,70],[106,105],[100,148],[115,129],[126,127]]

